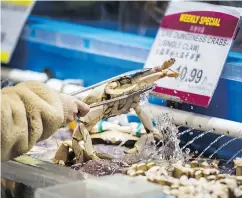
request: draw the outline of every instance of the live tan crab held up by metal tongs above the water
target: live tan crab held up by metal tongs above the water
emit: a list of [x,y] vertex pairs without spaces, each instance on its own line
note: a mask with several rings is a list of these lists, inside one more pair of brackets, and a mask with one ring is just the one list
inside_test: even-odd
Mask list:
[[[175,59],[171,58],[161,66],[150,68],[146,71],[136,73],[133,76],[122,76],[93,88],[87,96],[79,99],[91,105],[155,86],[155,82],[164,77],[177,78],[179,73],[170,69],[174,63]],[[131,109],[135,110],[147,133],[142,135],[135,143],[134,148],[126,151],[126,153],[135,154],[141,151],[142,145],[151,136],[160,139],[161,133],[153,126],[149,113],[145,112],[142,106],[139,105],[140,101],[141,95],[132,95],[126,99],[91,108],[86,116],[79,118],[78,124],[72,134],[72,149],[75,153],[76,162],[80,163],[82,161],[84,152],[90,159],[99,158],[92,145],[90,131],[100,120],[126,114]],[[84,141],[84,148],[80,146],[80,141]]]

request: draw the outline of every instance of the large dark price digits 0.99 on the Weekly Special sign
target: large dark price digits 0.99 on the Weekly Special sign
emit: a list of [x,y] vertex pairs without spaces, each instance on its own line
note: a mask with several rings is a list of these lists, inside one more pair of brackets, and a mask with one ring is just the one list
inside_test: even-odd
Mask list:
[[204,72],[202,69],[197,68],[188,68],[187,66],[180,65],[176,69],[180,76],[179,80],[182,82],[189,82],[189,83],[195,83],[195,84],[202,84],[202,82],[205,80],[206,77],[204,77]]

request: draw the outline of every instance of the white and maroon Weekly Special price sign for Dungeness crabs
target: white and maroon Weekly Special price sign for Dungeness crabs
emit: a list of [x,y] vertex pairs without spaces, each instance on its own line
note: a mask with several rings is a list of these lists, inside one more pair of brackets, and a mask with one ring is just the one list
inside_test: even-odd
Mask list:
[[207,107],[233,43],[240,13],[198,2],[171,2],[145,68],[175,58],[179,78],[163,78],[154,92]]

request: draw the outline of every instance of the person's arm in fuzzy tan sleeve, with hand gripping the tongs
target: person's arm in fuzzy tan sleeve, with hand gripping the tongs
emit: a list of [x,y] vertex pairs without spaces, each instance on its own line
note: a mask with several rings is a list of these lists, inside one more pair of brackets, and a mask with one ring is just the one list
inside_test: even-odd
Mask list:
[[[82,112],[83,110],[83,112]],[[24,82],[1,90],[1,161],[28,152],[88,106],[40,82]]]

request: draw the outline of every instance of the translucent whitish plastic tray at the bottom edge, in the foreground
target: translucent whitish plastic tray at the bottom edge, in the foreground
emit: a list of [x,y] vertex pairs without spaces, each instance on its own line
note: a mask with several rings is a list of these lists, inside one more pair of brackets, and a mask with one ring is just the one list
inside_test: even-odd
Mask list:
[[83,181],[39,189],[36,198],[171,198],[159,185],[125,175],[88,178]]

